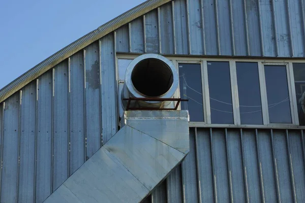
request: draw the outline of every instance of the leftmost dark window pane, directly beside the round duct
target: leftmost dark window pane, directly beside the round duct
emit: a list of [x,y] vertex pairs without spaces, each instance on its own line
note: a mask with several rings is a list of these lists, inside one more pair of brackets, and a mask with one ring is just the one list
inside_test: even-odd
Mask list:
[[179,64],[180,96],[189,99],[181,102],[182,110],[189,110],[190,121],[204,121],[200,64]]

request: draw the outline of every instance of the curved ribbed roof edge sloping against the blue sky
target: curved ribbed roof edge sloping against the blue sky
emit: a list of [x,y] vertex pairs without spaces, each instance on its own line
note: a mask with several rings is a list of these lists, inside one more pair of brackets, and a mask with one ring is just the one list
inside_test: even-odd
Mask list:
[[16,91],[20,90],[22,87],[27,85],[29,82],[35,80],[46,71],[50,70],[52,67],[62,62],[66,58],[72,56],[76,52],[85,48],[89,44],[101,39],[108,33],[116,30],[120,26],[144,15],[145,13],[154,10],[171,0],[148,0],[133,9],[119,15],[118,17],[110,20],[109,22],[98,27],[96,30],[89,32],[87,35],[81,37],[55,54],[51,55],[44,61],[40,62],[34,66],[29,71],[22,74],[20,77],[15,79],[13,82],[9,83],[7,86],[0,90],[0,103],[6,98],[14,94]]

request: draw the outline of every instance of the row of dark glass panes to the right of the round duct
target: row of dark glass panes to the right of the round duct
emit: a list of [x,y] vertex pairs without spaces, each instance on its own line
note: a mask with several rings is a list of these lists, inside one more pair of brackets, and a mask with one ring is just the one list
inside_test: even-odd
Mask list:
[[[205,97],[209,96],[212,124],[236,124],[234,105],[239,110],[240,124],[297,124],[293,122],[291,99],[296,92],[299,123],[304,124],[300,98],[305,91],[305,63],[293,63],[295,88],[289,85],[288,64],[260,63],[262,74],[259,74],[257,62],[206,61],[206,64],[208,92],[202,96],[201,84],[206,83],[202,83],[204,77],[201,77],[201,64],[179,63],[180,96],[189,99],[188,103],[182,104],[181,109],[189,110],[190,121],[204,122],[203,104]],[[231,88],[234,85],[232,78],[236,78],[237,89]],[[265,84],[264,87],[260,87],[261,84]],[[266,96],[261,92],[264,88]],[[295,92],[292,93],[292,89]],[[236,104],[232,91],[238,92]],[[265,122],[264,113],[267,113],[265,120],[268,119]]]

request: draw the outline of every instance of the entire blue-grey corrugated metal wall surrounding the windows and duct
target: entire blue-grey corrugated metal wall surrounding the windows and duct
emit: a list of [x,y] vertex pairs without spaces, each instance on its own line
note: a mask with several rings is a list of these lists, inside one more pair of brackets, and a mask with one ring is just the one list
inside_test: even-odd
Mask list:
[[[304,57],[304,22],[303,1],[175,0],[72,55],[0,104],[0,201],[42,202],[117,131],[116,52]],[[301,131],[194,133],[154,202],[305,201]]]

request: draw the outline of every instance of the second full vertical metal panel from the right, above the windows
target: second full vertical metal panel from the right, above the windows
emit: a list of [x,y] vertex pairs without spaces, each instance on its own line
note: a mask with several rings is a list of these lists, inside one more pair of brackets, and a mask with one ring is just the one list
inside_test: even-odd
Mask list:
[[288,16],[285,1],[286,0],[273,1],[279,56],[290,56],[290,42],[287,23]]

